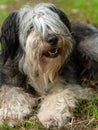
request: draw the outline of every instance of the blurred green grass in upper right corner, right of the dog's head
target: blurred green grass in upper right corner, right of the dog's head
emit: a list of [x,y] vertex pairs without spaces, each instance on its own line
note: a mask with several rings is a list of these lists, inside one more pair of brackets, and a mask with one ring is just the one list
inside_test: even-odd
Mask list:
[[98,0],[59,0],[57,5],[71,21],[98,23]]

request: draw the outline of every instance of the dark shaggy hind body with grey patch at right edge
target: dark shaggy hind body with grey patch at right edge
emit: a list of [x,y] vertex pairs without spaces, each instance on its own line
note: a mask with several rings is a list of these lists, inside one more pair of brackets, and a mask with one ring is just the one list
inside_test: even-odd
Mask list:
[[73,23],[71,27],[76,41],[77,61],[81,68],[80,83],[85,82],[83,85],[86,87],[98,90],[98,29],[94,25],[82,23]]

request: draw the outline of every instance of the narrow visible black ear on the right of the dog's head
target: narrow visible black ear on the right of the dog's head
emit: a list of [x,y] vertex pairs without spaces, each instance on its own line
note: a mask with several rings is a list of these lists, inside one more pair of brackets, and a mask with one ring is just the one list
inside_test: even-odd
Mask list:
[[59,8],[55,6],[49,7],[53,12],[57,13],[61,19],[61,21],[68,27],[69,31],[71,31],[71,23],[69,19],[67,18],[66,14],[61,11]]

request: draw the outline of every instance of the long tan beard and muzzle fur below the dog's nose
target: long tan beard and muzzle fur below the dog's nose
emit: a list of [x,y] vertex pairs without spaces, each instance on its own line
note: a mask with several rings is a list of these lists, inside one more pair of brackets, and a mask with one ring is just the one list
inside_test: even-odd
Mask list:
[[41,81],[42,85],[49,86],[49,83],[55,81],[61,66],[67,62],[72,51],[72,39],[70,36],[57,36],[58,43],[52,46],[43,41],[36,32],[28,35],[19,68],[28,76],[31,84]]

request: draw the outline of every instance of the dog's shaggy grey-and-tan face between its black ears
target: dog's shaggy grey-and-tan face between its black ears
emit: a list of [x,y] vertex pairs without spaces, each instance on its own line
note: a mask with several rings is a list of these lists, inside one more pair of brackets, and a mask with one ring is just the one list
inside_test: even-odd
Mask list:
[[39,4],[34,9],[23,8],[19,12],[24,70],[26,73],[32,71],[33,76],[44,74],[50,81],[72,50],[69,28],[55,10],[52,4]]

